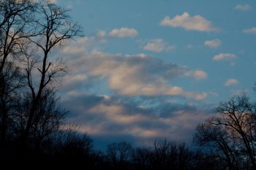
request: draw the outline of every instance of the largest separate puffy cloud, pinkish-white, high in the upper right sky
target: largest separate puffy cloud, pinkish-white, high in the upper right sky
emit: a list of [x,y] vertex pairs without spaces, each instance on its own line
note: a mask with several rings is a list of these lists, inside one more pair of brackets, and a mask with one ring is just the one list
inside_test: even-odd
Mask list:
[[188,12],[184,12],[182,15],[176,15],[174,18],[165,17],[161,23],[161,26],[181,27],[185,30],[195,31],[218,31],[218,28],[212,26],[211,21],[206,20],[200,15],[190,16]]

